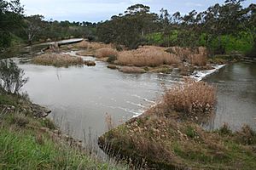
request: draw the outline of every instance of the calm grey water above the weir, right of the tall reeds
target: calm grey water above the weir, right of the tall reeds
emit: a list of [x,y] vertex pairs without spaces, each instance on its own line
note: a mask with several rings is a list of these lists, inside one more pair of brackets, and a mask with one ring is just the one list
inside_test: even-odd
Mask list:
[[211,128],[227,122],[233,130],[244,124],[256,129],[256,63],[226,65],[207,82],[218,88],[218,104]]

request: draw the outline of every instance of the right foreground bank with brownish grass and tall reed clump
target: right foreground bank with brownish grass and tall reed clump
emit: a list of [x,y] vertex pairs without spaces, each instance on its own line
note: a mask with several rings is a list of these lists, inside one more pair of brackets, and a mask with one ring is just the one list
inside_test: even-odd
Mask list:
[[103,134],[99,144],[156,169],[255,169],[256,133],[250,127],[232,133],[227,125],[214,132],[199,125],[212,116],[214,91],[205,82],[172,88],[160,104]]

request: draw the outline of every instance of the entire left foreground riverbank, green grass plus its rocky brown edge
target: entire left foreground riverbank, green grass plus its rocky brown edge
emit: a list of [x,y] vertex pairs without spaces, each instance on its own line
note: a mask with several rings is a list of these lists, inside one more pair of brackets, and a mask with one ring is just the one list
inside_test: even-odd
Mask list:
[[37,112],[24,97],[1,91],[0,169],[126,169],[99,161]]

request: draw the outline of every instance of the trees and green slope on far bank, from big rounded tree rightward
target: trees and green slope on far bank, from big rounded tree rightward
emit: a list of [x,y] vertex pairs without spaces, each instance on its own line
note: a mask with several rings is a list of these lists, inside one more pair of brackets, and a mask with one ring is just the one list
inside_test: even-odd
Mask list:
[[[169,14],[150,12],[143,4],[133,5],[124,14],[97,26],[99,41],[137,48],[143,44],[160,46],[205,46],[212,54],[225,54],[234,49],[255,55],[256,5],[242,7],[245,0],[226,0],[206,11]],[[231,47],[229,47],[231,46]]]

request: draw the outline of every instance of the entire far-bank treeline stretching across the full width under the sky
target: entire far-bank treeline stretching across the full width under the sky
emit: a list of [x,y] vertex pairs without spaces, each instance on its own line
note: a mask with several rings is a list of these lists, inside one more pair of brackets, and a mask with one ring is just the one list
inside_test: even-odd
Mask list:
[[25,16],[20,0],[0,0],[0,48],[17,42],[32,44],[47,39],[85,37],[90,41],[115,43],[127,48],[144,44],[207,47],[211,54],[230,51],[256,55],[256,5],[243,7],[245,0],[226,0],[206,11],[169,14],[150,12],[143,4],[132,5],[124,14],[99,23],[44,20],[42,15]]

